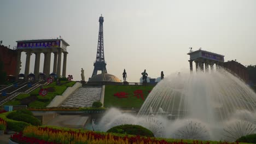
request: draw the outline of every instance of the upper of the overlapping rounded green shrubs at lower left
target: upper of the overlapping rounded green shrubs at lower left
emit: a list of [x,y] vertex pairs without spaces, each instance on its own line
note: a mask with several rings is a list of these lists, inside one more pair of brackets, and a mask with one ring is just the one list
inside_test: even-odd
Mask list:
[[35,118],[31,115],[27,115],[22,112],[9,113],[9,115],[7,115],[7,118],[13,119],[15,121],[30,123],[32,125],[42,125],[41,122],[37,118]]

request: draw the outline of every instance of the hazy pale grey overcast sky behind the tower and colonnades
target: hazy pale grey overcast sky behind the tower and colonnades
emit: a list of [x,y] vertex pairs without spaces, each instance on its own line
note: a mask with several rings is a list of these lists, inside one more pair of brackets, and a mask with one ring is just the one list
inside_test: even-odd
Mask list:
[[[189,70],[189,47],[237,59],[243,65],[256,64],[256,1],[0,1],[0,40],[57,38],[67,48],[67,75],[80,80],[91,77],[96,59],[98,18],[104,17],[104,55],[107,71],[127,81],[148,76],[165,76]],[[25,53],[22,69],[25,71]],[[63,57],[63,56],[62,56]],[[31,56],[30,72],[34,70]],[[41,61],[43,62],[43,54]],[[53,54],[51,57],[53,71]],[[43,63],[40,64],[40,72]]]

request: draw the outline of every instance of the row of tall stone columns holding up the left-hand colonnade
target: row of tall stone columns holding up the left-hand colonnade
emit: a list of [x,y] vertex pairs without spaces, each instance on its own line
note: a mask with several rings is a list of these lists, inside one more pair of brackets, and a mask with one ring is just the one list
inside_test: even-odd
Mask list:
[[34,78],[39,80],[39,67],[40,67],[40,55],[44,53],[44,67],[43,73],[45,76],[50,75],[50,65],[51,65],[51,53],[54,53],[54,65],[53,65],[53,73],[58,77],[61,76],[61,57],[63,53],[63,67],[62,67],[62,77],[66,77],[66,66],[67,66],[67,54],[68,52],[63,51],[61,48],[58,48],[57,51],[53,51],[52,49],[48,50],[18,50],[18,62],[16,68],[16,80],[18,80],[18,75],[20,73],[20,64],[21,64],[21,52],[26,52],[26,65],[25,65],[25,80],[27,80],[27,76],[30,72],[30,57],[32,53],[36,55],[36,59],[34,62]]

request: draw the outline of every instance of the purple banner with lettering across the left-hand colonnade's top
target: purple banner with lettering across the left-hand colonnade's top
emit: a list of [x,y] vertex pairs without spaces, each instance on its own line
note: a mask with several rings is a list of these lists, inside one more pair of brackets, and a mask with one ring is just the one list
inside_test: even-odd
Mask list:
[[19,42],[17,44],[17,49],[50,48],[50,47],[60,47],[60,40]]

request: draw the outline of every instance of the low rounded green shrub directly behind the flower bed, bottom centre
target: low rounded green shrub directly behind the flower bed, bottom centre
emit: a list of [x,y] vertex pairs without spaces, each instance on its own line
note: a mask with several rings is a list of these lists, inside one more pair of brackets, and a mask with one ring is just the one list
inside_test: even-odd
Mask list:
[[154,137],[152,131],[148,130],[147,128],[144,128],[141,125],[132,124],[118,125],[116,127],[110,128],[107,131],[107,133],[119,133]]

